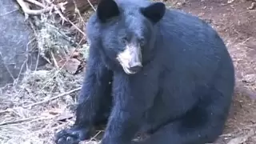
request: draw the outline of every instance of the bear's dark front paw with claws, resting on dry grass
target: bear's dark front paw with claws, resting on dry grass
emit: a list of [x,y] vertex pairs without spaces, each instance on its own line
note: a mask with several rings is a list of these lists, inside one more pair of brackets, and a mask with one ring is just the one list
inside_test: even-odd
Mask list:
[[83,127],[72,127],[70,129],[61,130],[55,134],[56,144],[78,144],[90,138],[90,129]]

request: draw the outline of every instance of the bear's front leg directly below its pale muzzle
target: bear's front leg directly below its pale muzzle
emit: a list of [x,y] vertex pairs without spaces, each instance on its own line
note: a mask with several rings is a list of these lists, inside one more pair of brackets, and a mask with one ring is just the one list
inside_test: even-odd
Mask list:
[[146,95],[138,80],[127,74],[114,74],[114,107],[102,144],[130,144],[145,123],[146,110],[154,103],[154,94]]

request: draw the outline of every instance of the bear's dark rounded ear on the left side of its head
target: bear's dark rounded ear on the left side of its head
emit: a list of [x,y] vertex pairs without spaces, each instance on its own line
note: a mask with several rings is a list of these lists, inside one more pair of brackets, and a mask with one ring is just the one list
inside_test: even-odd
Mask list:
[[109,18],[118,16],[120,11],[118,9],[118,4],[114,2],[114,0],[101,0],[98,3],[96,13],[101,22],[106,22]]

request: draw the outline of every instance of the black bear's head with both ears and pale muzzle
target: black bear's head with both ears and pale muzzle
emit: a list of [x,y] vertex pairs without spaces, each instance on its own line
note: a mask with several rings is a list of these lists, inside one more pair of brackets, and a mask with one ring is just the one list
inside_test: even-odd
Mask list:
[[106,66],[135,74],[156,47],[156,24],[165,12],[162,2],[101,0],[86,26],[87,38],[94,45],[100,43]]

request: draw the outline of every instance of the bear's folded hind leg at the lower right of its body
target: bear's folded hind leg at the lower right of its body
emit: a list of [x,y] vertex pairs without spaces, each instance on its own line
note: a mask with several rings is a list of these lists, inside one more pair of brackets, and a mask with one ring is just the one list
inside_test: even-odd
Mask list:
[[144,141],[133,144],[205,144],[214,142],[226,122],[230,96],[214,90],[182,118],[160,127]]

